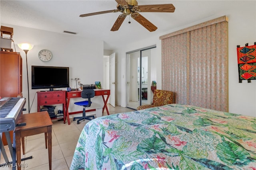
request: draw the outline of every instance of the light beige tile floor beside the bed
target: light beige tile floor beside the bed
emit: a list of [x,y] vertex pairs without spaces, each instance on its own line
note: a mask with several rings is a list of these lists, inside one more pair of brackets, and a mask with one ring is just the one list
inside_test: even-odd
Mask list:
[[[129,108],[120,106],[113,107],[108,104],[108,110],[110,114],[123,113],[134,111]],[[63,121],[53,121],[52,125],[52,170],[69,170],[72,162],[76,143],[80,136],[80,133],[87,120],[81,121],[77,124],[73,121],[73,117],[82,115],[75,114],[70,115],[70,125],[67,121],[64,124]],[[103,116],[106,116],[106,110]],[[9,160],[12,160],[8,146],[5,146]],[[22,152],[22,151],[21,151]],[[49,168],[48,164],[48,149],[45,148],[44,133],[39,135],[33,135],[25,138],[25,155],[22,158],[32,156],[32,159],[22,161],[24,167],[22,170],[46,170]],[[4,163],[5,160],[1,154],[0,163]],[[11,170],[12,167],[0,167],[0,170]]]

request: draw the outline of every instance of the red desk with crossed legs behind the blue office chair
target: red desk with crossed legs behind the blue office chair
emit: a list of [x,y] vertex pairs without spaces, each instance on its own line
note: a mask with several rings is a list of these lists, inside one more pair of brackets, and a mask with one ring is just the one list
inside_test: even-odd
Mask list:
[[[95,96],[102,96],[102,99],[103,99],[103,102],[104,102],[104,106],[102,108],[102,113],[104,112],[104,109],[106,108],[106,111],[109,115],[107,102],[108,102],[108,98],[110,96],[110,90],[94,89],[94,91],[95,91]],[[83,112],[83,111],[74,111],[74,112],[70,112],[70,113],[68,112],[68,106],[69,106],[70,98],[81,98],[81,92],[82,92],[81,90],[66,92],[67,105],[66,105],[66,114],[64,114],[64,123],[66,123],[66,119],[68,119],[68,124],[70,125],[69,115]],[[104,95],[107,95],[106,100],[104,98]],[[96,109],[90,109],[90,110],[86,110],[86,111],[88,112],[88,111],[95,111],[95,110]]]

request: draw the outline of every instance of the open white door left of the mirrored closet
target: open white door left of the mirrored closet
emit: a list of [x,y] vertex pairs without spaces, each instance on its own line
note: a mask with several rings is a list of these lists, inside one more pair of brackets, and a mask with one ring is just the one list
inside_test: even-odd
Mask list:
[[116,107],[116,53],[109,56],[109,104]]

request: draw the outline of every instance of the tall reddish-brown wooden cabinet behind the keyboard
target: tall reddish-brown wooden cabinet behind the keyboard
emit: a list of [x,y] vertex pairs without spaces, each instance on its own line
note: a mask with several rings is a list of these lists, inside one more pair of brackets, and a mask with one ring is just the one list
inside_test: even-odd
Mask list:
[[22,97],[22,58],[20,53],[0,51],[0,96]]

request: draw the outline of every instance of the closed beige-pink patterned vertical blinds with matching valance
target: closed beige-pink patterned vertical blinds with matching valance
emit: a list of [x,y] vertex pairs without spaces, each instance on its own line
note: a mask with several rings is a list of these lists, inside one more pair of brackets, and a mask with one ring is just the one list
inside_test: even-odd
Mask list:
[[163,35],[162,89],[174,102],[228,111],[228,20],[216,18]]

